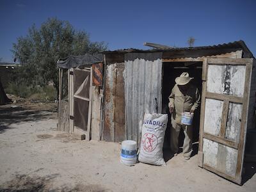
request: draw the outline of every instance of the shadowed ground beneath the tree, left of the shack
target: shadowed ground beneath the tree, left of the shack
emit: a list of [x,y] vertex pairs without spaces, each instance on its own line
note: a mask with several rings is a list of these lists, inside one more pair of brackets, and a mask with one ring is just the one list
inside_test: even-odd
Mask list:
[[11,129],[11,124],[56,118],[57,104],[24,102],[0,106],[0,134]]

